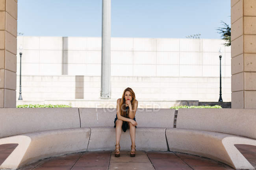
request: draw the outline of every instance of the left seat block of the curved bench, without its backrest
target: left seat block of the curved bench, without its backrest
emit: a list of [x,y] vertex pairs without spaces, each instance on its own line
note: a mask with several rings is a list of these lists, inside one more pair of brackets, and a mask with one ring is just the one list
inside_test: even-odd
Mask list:
[[0,144],[18,146],[2,163],[2,169],[17,169],[39,159],[87,151],[90,128],[72,128],[25,133],[0,139]]

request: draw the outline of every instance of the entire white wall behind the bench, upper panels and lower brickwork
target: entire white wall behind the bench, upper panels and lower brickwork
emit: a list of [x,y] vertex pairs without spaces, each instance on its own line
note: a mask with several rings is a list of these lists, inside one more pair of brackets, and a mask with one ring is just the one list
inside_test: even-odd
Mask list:
[[[230,47],[220,39],[111,38],[113,99],[131,87],[138,99],[231,101]],[[18,37],[24,100],[74,100],[75,75],[84,75],[84,99],[100,98],[101,38]],[[17,97],[20,57],[17,55]],[[62,75],[67,73],[67,75]]]

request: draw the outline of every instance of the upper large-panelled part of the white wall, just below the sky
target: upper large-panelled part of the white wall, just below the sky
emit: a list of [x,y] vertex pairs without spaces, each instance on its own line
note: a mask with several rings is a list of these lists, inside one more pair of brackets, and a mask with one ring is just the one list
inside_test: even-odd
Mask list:
[[[111,38],[112,76],[231,77],[230,48],[220,39]],[[18,37],[22,75],[100,76],[99,37]],[[17,51],[19,53],[19,49]],[[20,58],[17,58],[19,74]]]

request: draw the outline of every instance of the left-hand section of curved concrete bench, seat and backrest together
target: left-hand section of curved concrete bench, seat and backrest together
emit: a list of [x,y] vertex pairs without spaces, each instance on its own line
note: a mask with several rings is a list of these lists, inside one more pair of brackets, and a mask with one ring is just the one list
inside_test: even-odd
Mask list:
[[0,144],[19,144],[0,169],[87,150],[90,128],[80,128],[78,108],[1,108],[0,117]]

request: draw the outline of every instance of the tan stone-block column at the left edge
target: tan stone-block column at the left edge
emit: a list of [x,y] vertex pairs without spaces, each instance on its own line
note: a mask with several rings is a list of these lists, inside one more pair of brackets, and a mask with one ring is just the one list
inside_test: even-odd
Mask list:
[[0,0],[0,108],[16,107],[17,0]]

